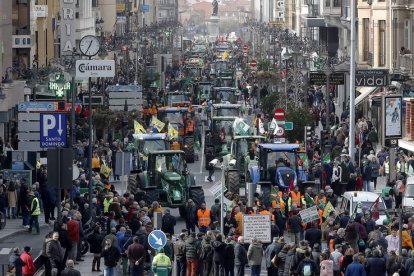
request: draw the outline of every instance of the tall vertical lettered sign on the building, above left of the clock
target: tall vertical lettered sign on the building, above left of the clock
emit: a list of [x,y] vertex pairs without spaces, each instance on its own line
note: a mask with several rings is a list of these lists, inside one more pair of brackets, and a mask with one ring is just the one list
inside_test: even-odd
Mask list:
[[60,54],[71,55],[76,47],[75,40],[75,0],[61,0]]

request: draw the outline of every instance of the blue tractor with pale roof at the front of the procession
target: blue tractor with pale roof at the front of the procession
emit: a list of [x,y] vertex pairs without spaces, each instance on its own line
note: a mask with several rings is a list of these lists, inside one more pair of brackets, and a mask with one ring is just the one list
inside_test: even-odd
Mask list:
[[259,144],[257,146],[258,164],[249,168],[246,182],[260,185],[266,206],[271,201],[272,185],[278,186],[280,190],[288,190],[299,185],[299,148],[298,144]]

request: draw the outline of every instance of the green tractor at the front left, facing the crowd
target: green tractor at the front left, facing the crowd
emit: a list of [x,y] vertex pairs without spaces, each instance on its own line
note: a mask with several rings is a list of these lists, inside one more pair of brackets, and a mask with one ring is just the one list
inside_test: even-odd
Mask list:
[[137,200],[158,201],[163,207],[179,208],[185,214],[185,204],[192,199],[196,206],[204,202],[204,191],[196,186],[181,150],[153,151],[148,154],[148,169],[137,175]]

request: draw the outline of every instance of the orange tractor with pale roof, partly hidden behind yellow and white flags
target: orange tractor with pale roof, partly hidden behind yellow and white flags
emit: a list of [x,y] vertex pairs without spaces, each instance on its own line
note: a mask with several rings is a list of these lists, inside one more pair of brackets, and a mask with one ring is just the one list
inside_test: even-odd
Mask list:
[[164,123],[169,123],[174,127],[179,135],[173,141],[171,149],[181,149],[185,152],[188,163],[195,160],[194,153],[194,111],[191,107],[161,107],[158,109],[158,119]]

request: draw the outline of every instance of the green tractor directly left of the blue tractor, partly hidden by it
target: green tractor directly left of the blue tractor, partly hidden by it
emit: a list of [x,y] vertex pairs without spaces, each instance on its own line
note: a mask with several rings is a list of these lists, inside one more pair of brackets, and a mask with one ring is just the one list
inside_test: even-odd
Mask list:
[[228,164],[225,172],[225,185],[232,194],[239,194],[240,188],[246,189],[246,176],[249,168],[257,165],[257,158],[249,155],[258,144],[264,143],[266,137],[256,135],[234,136],[230,154],[226,155]]

